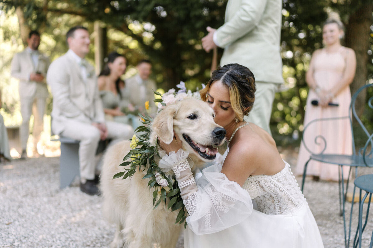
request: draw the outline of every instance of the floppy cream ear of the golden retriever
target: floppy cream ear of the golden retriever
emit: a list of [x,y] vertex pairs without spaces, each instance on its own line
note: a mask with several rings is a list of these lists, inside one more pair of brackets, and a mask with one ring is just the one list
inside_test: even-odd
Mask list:
[[173,140],[173,117],[177,110],[176,105],[167,106],[153,120],[153,131],[166,144],[170,144]]

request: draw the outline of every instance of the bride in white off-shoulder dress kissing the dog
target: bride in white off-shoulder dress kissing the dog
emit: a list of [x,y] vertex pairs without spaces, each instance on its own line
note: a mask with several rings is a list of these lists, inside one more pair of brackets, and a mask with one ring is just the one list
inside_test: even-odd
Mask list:
[[168,156],[159,166],[175,171],[189,213],[186,248],[323,247],[307,201],[275,141],[243,121],[255,91],[253,73],[239,64],[219,67],[200,91],[215,112],[215,122],[226,129],[228,144],[223,164],[205,168],[197,183],[179,137],[168,145],[161,142]]

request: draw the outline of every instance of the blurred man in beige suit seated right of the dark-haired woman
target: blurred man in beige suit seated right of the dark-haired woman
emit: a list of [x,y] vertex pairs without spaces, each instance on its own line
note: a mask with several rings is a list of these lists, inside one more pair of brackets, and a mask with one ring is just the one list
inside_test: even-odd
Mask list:
[[137,66],[138,73],[133,77],[126,80],[126,87],[128,87],[130,94],[130,102],[132,106],[143,112],[145,109],[145,102],[149,101],[149,112],[151,115],[155,115],[157,107],[154,104],[154,92],[157,90],[156,83],[151,80],[151,62],[147,59],[143,59],[138,62]]

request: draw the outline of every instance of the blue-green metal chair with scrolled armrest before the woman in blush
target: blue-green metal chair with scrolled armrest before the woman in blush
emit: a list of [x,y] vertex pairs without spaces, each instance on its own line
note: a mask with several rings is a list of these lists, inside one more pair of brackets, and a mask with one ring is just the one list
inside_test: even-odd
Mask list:
[[[339,171],[339,175],[338,175],[339,176],[338,177],[339,178],[339,180],[338,180],[338,186],[339,186],[338,187],[338,189],[339,189],[339,214],[341,216],[343,216],[345,247],[349,247],[349,245],[350,245],[351,216],[352,216],[352,209],[353,209],[353,205],[354,205],[353,202],[354,202],[354,199],[355,199],[355,189],[356,189],[356,187],[354,187],[354,190],[353,190],[353,193],[352,193],[352,199],[353,200],[352,200],[352,205],[351,205],[350,226],[349,226],[348,238],[347,238],[346,219],[345,219],[345,201],[346,201],[346,194],[347,194],[347,190],[348,190],[348,183],[349,183],[349,180],[350,180],[352,168],[355,168],[355,175],[354,176],[356,177],[358,167],[366,167],[366,166],[373,167],[372,151],[367,153],[367,148],[369,147],[369,145],[370,145],[370,147],[372,147],[372,144],[373,144],[372,134],[367,130],[367,128],[361,122],[360,118],[358,117],[358,115],[356,113],[356,109],[355,109],[356,99],[358,98],[358,96],[360,95],[360,93],[364,89],[369,88],[369,87],[373,87],[373,84],[367,84],[367,85],[362,86],[352,96],[351,103],[350,103],[350,113],[349,113],[348,116],[315,119],[315,120],[312,120],[310,123],[308,123],[307,126],[305,126],[304,131],[303,131],[303,137],[304,137],[304,133],[307,131],[307,128],[310,125],[314,125],[316,122],[330,122],[330,121],[334,122],[334,121],[340,121],[342,119],[348,119],[350,121],[351,132],[352,132],[352,152],[353,152],[352,155],[324,153],[325,149],[326,149],[327,142],[326,142],[326,139],[321,135],[316,136],[315,139],[314,139],[314,142],[315,142],[316,145],[319,145],[323,149],[322,149],[321,152],[315,153],[307,147],[307,144],[304,142],[304,139],[302,138],[302,142],[305,146],[305,149],[307,149],[307,151],[310,152],[310,158],[308,159],[308,161],[304,165],[304,172],[303,172],[303,178],[302,178],[302,188],[301,188],[302,191],[304,189],[305,175],[306,175],[306,172],[307,172],[308,162],[310,162],[311,160],[315,160],[315,161],[324,162],[324,163],[328,163],[328,164],[338,165],[338,171]],[[368,106],[369,106],[370,109],[373,109],[373,97],[371,97],[368,100]],[[363,130],[364,134],[367,135],[366,136],[367,137],[366,145],[364,147],[358,149],[358,151],[355,147],[354,130],[352,129],[352,120],[353,119],[355,119],[358,122],[358,124],[359,124],[360,128]],[[343,135],[343,134],[341,134],[341,135]],[[350,167],[348,177],[347,177],[348,179],[347,179],[347,183],[346,183],[346,189],[345,189],[344,180],[343,180],[343,178],[344,178],[343,170],[342,170],[343,166],[349,166]]]

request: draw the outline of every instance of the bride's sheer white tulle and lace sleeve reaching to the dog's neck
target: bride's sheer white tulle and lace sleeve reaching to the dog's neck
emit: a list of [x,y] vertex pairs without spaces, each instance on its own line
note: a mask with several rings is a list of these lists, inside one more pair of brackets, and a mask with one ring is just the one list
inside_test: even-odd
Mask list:
[[[171,161],[167,158],[166,160]],[[185,167],[185,161],[187,163],[187,160],[182,160],[175,165],[176,171],[183,178],[179,181],[176,177],[176,180],[179,182],[181,196],[189,213],[186,222],[195,234],[222,231],[242,222],[251,214],[253,203],[250,195],[238,183],[229,181],[226,175],[220,172],[221,165],[205,168],[197,185],[185,184],[184,181],[190,182],[193,177],[190,170],[180,170],[181,167]]]

